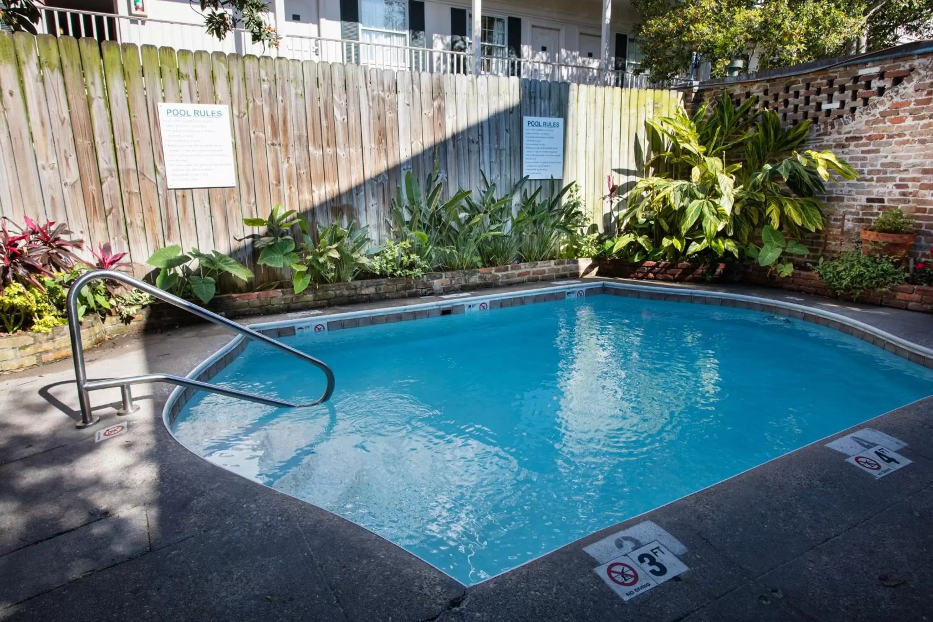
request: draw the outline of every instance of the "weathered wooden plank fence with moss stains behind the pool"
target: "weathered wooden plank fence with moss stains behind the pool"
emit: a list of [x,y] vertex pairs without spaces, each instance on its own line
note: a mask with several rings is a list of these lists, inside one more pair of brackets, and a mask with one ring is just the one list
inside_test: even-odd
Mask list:
[[[243,218],[275,204],[313,221],[355,217],[379,242],[404,173],[437,156],[449,187],[522,175],[522,117],[564,117],[564,180],[602,225],[606,175],[637,175],[645,119],[675,91],[0,34],[0,210],[69,223],[132,260],[163,245],[252,263]],[[169,190],[158,103],[229,104],[237,185]]]

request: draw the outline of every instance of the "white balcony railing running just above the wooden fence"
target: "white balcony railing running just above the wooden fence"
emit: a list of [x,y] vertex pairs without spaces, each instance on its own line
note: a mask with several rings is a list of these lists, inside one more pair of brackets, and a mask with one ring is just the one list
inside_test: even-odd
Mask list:
[[[38,30],[50,35],[91,37],[98,41],[119,41],[140,46],[277,56],[299,61],[348,62],[377,69],[441,74],[473,73],[473,54],[464,51],[301,35],[283,35],[278,48],[271,48],[253,43],[250,34],[240,29],[230,33],[226,39],[218,40],[208,35],[202,23],[153,20],[63,8],[41,7],[40,10],[42,18]],[[604,72],[592,64],[518,58],[483,57],[480,59],[480,73],[626,88],[655,86],[648,76],[614,70]]]

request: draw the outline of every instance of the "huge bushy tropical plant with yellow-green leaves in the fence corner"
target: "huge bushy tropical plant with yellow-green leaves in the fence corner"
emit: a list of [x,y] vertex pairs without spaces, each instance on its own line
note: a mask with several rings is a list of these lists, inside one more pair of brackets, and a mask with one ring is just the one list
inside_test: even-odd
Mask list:
[[823,227],[816,196],[833,174],[853,179],[855,170],[829,151],[797,152],[810,122],[782,128],[776,113],[755,103],[735,107],[723,96],[691,117],[677,110],[648,119],[655,155],[624,202],[618,191],[612,197],[623,205],[613,253],[739,259],[765,225],[792,239]]

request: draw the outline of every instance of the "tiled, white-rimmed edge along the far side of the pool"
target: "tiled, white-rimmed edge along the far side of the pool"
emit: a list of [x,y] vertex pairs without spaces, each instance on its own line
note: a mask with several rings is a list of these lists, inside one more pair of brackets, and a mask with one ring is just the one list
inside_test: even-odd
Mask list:
[[[291,337],[303,330],[342,330],[359,326],[421,320],[429,317],[439,317],[441,315],[458,315],[466,311],[466,303],[469,300],[474,300],[476,302],[488,301],[489,311],[493,311],[494,309],[566,299],[568,297],[568,292],[574,293],[575,297],[597,295],[637,297],[647,300],[689,302],[773,313],[774,315],[782,315],[833,328],[847,335],[852,335],[857,339],[868,341],[879,348],[884,348],[884,350],[897,354],[902,358],[906,358],[912,363],[933,368],[933,350],[831,311],[815,309],[805,305],[785,302],[783,300],[747,296],[744,294],[712,292],[687,287],[671,289],[667,287],[618,283],[599,279],[581,280],[578,283],[549,285],[518,292],[500,292],[498,294],[477,291],[470,292],[468,296],[460,298],[432,300],[430,302],[414,303],[400,307],[386,306],[384,308],[367,309],[363,311],[325,313],[313,316],[311,319],[284,320],[252,325],[251,327],[273,338]],[[192,369],[187,378],[201,381],[208,381],[214,378],[221,370],[230,365],[237,356],[244,352],[246,345],[246,339],[242,336],[232,339],[226,346],[205,359],[201,365]],[[177,387],[172,394],[169,395],[165,407],[162,410],[162,421],[165,423],[170,433],[181,409],[185,407],[195,393],[197,393],[195,389]]]

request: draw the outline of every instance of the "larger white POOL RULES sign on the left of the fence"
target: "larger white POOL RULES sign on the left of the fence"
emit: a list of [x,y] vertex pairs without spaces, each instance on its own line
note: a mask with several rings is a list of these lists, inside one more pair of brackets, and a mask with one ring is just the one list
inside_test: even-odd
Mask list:
[[168,187],[236,186],[230,106],[159,104]]

